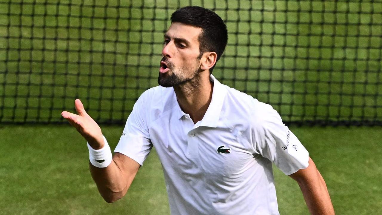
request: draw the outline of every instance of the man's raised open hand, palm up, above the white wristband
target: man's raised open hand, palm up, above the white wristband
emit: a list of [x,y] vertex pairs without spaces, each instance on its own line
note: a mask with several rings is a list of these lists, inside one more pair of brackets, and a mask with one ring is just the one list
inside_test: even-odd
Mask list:
[[86,113],[81,100],[76,99],[76,101],[74,101],[74,106],[76,107],[78,115],[63,111],[61,113],[62,117],[78,130],[92,148],[100,149],[104,147],[105,143],[104,138],[102,137],[101,128],[94,119]]

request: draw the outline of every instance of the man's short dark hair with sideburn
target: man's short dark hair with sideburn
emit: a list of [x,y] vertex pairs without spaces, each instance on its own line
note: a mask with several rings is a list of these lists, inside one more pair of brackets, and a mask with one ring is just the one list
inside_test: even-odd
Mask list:
[[[204,52],[216,52],[216,62],[220,59],[227,46],[228,32],[222,18],[214,11],[197,6],[179,8],[171,15],[171,22],[201,28],[202,33],[197,38],[200,52],[198,58],[200,59]],[[210,73],[215,65],[210,68]]]

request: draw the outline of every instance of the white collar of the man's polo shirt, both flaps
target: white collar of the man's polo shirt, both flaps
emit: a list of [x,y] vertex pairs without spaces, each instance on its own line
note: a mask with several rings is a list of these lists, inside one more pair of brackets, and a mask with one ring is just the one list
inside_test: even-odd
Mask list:
[[[207,127],[217,127],[217,123],[219,122],[220,112],[222,111],[223,102],[225,95],[227,94],[227,90],[224,85],[222,85],[212,74],[210,75],[210,80],[214,82],[214,88],[212,89],[212,99],[209,104],[206,113],[201,121],[195,124],[195,127],[198,126],[207,126]],[[180,119],[181,117],[188,115],[183,112],[179,106],[178,101],[176,101],[176,95],[174,92],[173,99],[175,100],[175,116]]]

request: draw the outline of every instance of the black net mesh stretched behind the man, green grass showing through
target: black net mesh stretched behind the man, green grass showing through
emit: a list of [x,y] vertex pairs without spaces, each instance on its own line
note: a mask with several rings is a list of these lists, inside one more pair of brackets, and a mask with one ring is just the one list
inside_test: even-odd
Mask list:
[[157,86],[163,33],[179,7],[214,10],[228,45],[222,83],[291,124],[381,125],[381,1],[0,0],[0,123],[60,123],[80,98],[124,124]]

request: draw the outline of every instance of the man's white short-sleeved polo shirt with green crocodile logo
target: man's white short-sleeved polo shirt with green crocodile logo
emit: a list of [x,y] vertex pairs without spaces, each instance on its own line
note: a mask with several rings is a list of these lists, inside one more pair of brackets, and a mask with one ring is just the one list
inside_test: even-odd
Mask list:
[[308,166],[308,151],[270,105],[210,79],[196,124],[173,88],[145,91],[115,152],[142,165],[156,148],[172,215],[278,215],[272,162],[290,175]]

